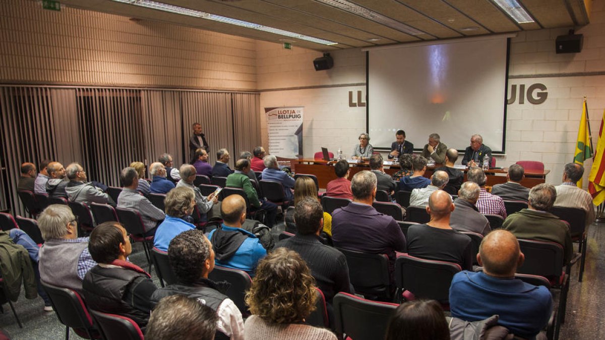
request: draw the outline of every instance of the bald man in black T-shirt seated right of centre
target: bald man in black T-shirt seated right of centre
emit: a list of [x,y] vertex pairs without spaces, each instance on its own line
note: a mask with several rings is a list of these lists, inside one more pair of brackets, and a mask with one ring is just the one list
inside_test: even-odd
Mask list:
[[450,226],[454,204],[450,194],[437,190],[428,198],[427,224],[414,224],[408,229],[408,254],[427,260],[457,263],[462,269],[473,269],[471,238]]

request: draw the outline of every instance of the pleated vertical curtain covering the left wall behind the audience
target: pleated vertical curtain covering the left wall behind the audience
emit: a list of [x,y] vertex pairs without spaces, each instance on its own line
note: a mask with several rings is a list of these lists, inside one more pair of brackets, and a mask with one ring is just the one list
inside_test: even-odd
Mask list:
[[90,87],[0,86],[0,209],[24,215],[17,183],[23,162],[79,162],[89,180],[120,186],[122,168],[149,166],[165,152],[189,162],[191,125],[233,165],[261,143],[258,93]]

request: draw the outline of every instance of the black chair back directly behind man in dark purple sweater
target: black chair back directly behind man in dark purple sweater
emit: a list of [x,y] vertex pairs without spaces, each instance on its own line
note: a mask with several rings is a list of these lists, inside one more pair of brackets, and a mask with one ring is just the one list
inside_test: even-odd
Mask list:
[[388,256],[357,252],[336,247],[347,258],[348,276],[355,292],[373,299],[391,300],[391,280],[388,273]]

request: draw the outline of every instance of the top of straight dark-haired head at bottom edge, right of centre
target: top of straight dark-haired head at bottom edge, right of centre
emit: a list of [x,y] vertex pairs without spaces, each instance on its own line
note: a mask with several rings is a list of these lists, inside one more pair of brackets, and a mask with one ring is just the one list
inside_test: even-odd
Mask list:
[[385,340],[450,340],[450,327],[435,300],[404,302],[388,321]]

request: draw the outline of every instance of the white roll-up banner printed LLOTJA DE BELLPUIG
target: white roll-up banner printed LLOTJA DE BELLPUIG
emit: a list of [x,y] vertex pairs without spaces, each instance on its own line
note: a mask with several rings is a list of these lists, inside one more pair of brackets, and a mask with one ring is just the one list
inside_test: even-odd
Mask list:
[[284,158],[302,158],[302,106],[265,108],[269,153]]

